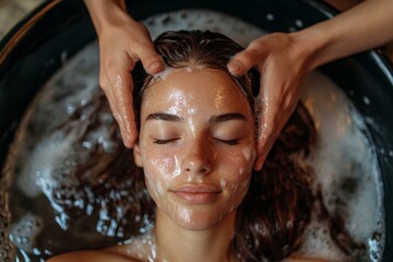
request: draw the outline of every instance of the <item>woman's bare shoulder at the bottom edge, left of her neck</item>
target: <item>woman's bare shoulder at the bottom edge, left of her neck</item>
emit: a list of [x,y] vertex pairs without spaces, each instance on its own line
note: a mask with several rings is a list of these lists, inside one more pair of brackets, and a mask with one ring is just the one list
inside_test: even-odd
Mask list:
[[48,262],[141,262],[136,259],[126,258],[121,253],[111,252],[107,250],[94,250],[94,251],[75,251],[63,253],[47,260]]

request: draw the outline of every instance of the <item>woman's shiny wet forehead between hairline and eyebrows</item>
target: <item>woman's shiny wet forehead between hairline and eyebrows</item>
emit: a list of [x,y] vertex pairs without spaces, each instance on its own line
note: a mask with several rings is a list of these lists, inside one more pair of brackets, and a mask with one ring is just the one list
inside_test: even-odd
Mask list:
[[248,112],[250,105],[228,73],[216,69],[169,70],[165,78],[153,80],[146,90],[142,112],[178,109],[209,109]]

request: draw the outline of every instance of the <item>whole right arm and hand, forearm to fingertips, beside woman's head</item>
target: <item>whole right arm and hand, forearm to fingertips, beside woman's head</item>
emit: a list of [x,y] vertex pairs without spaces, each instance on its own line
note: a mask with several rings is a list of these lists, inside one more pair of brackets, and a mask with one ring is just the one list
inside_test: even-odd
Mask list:
[[298,99],[303,76],[324,63],[379,47],[393,39],[393,2],[368,0],[337,16],[291,34],[262,36],[229,62],[234,74],[261,72],[262,114],[258,138],[263,162]]

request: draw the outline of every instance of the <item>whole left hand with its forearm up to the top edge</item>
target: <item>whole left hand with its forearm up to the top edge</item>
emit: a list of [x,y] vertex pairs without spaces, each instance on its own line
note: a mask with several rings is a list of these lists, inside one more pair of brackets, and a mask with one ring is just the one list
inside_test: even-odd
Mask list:
[[99,44],[99,85],[118,122],[123,143],[132,147],[138,135],[131,71],[141,60],[147,73],[165,66],[145,26],[132,20],[124,1],[85,0]]

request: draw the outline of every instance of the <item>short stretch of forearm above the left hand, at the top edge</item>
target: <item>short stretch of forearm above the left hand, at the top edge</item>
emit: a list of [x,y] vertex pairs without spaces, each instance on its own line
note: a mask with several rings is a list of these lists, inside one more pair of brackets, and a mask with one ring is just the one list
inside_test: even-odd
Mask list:
[[98,35],[106,25],[121,25],[122,17],[131,19],[124,0],[84,0],[84,3]]

